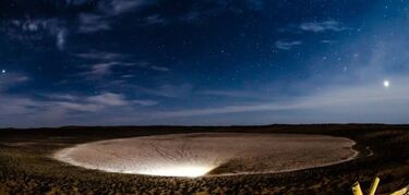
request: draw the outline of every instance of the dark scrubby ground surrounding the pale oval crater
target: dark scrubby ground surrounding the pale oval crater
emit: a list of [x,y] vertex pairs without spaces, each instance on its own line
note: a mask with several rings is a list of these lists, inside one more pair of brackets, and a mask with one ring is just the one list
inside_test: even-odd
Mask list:
[[[108,138],[195,132],[301,133],[349,137],[360,158],[288,173],[180,179],[105,173],[52,160],[51,154]],[[409,184],[409,125],[327,124],[231,127],[61,127],[0,130],[0,194],[351,194],[381,178],[378,194]]]

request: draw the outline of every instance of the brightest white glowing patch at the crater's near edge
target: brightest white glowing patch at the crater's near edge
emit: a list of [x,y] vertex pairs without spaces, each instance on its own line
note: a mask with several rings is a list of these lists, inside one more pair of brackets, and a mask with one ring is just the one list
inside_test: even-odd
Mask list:
[[158,176],[185,176],[185,178],[197,178],[205,175],[213,168],[202,166],[180,166],[180,167],[167,167],[157,168],[145,171],[137,171],[139,174],[158,175]]

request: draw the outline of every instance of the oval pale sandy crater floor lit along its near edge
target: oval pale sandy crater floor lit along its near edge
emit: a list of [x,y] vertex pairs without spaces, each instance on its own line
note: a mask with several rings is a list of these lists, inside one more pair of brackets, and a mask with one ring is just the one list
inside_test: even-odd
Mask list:
[[353,159],[345,137],[290,134],[194,133],[77,145],[53,158],[107,172],[165,176],[285,172]]

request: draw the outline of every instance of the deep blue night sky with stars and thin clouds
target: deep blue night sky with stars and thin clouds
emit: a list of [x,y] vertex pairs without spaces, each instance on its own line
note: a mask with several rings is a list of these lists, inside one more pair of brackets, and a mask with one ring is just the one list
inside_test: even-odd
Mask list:
[[407,123],[407,0],[2,0],[0,126]]

